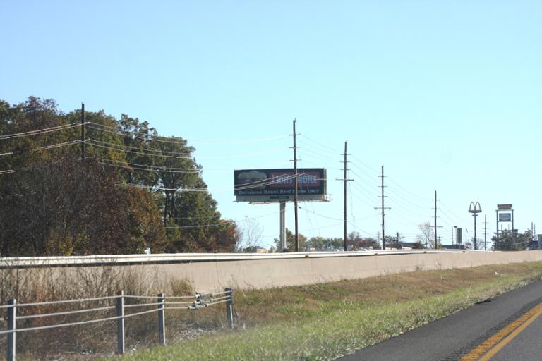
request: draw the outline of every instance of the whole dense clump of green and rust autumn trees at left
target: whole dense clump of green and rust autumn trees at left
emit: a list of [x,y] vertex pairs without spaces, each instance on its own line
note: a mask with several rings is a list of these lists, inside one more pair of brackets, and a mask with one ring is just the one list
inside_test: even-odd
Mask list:
[[186,140],[87,112],[83,159],[79,121],[51,99],[0,101],[1,256],[233,250]]

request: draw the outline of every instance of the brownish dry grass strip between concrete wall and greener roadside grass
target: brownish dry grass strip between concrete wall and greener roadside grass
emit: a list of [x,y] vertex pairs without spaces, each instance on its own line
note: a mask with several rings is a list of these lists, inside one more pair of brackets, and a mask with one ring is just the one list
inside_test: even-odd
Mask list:
[[[389,276],[318,283],[308,286],[239,290],[235,294],[240,322],[257,326],[298,319],[327,303],[375,305],[404,302],[476,287],[503,276],[528,276],[541,271],[533,264],[504,264],[445,271],[416,271]],[[496,274],[495,274],[496,273]]]

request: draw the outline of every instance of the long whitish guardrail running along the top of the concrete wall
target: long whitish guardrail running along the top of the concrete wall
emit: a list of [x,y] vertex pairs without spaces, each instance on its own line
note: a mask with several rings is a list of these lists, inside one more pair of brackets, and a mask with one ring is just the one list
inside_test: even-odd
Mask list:
[[347,252],[285,252],[285,253],[162,253],[156,255],[93,255],[67,257],[3,257],[0,268],[85,266],[99,264],[152,264],[181,262],[248,261],[255,259],[363,257],[385,255],[415,255],[419,253],[493,252],[481,250],[367,250]]

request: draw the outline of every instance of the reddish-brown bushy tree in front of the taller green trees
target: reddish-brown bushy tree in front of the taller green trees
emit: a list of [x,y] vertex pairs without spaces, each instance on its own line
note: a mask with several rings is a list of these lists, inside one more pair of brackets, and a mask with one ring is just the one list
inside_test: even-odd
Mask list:
[[97,255],[164,250],[152,197],[115,185],[96,159],[42,159],[1,183],[2,255]]

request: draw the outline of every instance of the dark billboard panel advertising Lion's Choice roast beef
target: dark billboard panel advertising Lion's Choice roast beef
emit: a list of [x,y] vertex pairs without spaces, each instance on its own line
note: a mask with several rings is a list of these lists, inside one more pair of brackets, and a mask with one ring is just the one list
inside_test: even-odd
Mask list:
[[[298,200],[325,200],[326,171],[297,169]],[[234,195],[238,202],[288,202],[294,200],[294,169],[241,169],[234,171]]]

